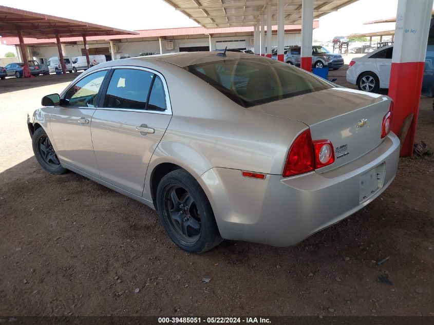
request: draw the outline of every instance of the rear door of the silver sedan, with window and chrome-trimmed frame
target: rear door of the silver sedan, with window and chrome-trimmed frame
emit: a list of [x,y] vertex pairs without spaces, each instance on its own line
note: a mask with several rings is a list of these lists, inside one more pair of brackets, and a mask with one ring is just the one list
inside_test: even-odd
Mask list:
[[101,179],[142,196],[149,160],[172,118],[167,86],[156,71],[118,67],[106,88],[91,124]]

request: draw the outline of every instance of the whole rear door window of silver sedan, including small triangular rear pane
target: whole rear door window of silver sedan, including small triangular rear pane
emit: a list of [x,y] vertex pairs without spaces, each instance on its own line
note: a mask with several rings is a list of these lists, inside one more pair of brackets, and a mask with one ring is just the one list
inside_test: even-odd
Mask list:
[[165,111],[163,82],[152,72],[117,69],[108,84],[104,107]]

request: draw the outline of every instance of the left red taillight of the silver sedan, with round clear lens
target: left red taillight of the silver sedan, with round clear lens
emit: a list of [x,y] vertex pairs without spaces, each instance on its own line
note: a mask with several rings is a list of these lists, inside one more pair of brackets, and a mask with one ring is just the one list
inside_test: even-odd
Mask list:
[[310,129],[301,133],[289,149],[284,177],[307,173],[334,162],[333,145],[329,140],[312,141]]

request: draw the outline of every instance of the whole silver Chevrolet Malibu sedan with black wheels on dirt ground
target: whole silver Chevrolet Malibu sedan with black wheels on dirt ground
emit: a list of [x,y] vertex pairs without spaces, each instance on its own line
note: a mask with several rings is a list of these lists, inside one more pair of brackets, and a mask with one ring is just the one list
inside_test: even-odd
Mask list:
[[178,53],[92,67],[28,127],[47,171],[155,208],[200,253],[294,245],[378,197],[398,165],[391,104],[260,56]]

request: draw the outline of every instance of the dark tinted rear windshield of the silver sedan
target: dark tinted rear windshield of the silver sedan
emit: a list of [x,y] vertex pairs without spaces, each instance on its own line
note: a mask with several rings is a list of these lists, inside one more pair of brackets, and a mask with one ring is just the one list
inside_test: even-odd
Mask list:
[[333,87],[301,69],[266,58],[214,61],[186,69],[243,107]]

